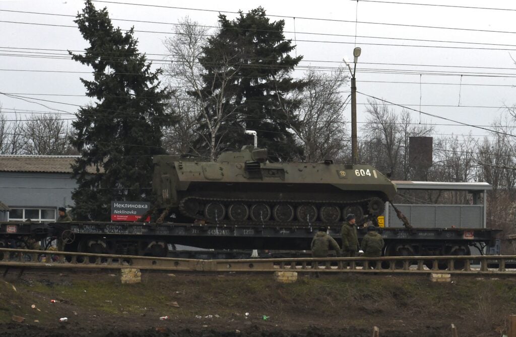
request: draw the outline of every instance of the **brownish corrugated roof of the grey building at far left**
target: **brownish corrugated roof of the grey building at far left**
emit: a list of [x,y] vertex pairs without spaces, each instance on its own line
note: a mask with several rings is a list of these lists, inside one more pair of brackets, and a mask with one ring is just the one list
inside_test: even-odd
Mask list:
[[[72,163],[80,156],[1,155],[0,172],[72,173]],[[89,173],[95,173],[93,169]]]

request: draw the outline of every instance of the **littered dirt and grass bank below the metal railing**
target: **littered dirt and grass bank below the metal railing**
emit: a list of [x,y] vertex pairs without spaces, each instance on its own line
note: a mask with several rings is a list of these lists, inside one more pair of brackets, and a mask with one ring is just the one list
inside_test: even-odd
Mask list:
[[516,280],[453,280],[300,274],[281,284],[272,275],[143,273],[141,283],[121,284],[115,274],[10,272],[0,280],[0,335],[370,337],[377,326],[381,337],[442,337],[452,323],[459,336],[506,333]]

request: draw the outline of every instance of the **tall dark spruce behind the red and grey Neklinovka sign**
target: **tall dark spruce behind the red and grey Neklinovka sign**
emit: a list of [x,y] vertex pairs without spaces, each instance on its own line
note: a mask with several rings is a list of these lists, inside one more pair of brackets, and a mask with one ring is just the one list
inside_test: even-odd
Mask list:
[[161,70],[151,71],[138,52],[133,28],[114,28],[107,9],[90,0],[75,23],[90,46],[84,54],[69,53],[93,68],[93,79],[81,80],[94,102],[72,122],[72,144],[81,155],[73,165],[74,216],[107,221],[112,200],[152,201],[152,156],[164,154],[162,129],[174,119],[165,110],[170,95],[160,89]]

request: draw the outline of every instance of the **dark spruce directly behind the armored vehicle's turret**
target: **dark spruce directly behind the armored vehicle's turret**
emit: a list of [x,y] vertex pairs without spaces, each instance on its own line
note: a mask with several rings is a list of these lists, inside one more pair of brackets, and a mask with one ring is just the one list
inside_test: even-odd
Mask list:
[[[259,7],[240,12],[232,21],[220,14],[219,23],[220,30],[208,39],[200,62],[206,70],[204,94],[209,96],[224,86],[228,95],[221,106],[236,112],[220,131],[230,135],[222,140],[222,146],[252,144],[244,130],[256,130],[259,146],[267,147],[269,154],[281,159],[298,157],[302,149],[288,129],[300,123],[296,116],[300,102],[289,99],[288,94],[306,83],[291,77],[302,56],[289,55],[295,46],[292,40],[285,40],[285,22],[271,22]],[[232,72],[235,75],[227,76]]]

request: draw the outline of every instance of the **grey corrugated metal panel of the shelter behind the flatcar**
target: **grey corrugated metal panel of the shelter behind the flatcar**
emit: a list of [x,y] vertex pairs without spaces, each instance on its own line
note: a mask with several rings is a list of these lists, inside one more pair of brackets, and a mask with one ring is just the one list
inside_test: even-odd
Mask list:
[[[482,205],[396,205],[415,228],[483,228]],[[389,205],[389,227],[403,227]]]

